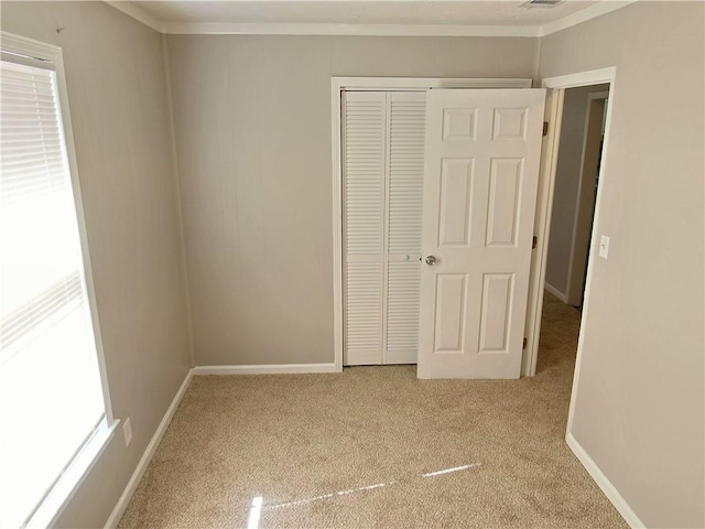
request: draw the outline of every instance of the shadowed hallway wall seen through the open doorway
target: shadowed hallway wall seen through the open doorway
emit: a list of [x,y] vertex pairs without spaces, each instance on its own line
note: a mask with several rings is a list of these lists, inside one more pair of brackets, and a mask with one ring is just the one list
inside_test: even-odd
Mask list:
[[568,266],[585,142],[587,96],[608,88],[609,85],[598,85],[565,90],[546,256],[546,283],[563,294],[567,294]]

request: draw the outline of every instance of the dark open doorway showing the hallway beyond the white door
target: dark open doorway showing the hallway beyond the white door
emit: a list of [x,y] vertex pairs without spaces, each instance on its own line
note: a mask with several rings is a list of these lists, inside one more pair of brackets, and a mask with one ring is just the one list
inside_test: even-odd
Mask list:
[[609,84],[563,94],[536,373],[577,349],[608,99]]

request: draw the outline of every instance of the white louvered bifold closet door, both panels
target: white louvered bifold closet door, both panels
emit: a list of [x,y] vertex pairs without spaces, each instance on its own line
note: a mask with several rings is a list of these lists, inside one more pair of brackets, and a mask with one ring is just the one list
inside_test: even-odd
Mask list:
[[425,94],[343,98],[345,365],[413,364]]

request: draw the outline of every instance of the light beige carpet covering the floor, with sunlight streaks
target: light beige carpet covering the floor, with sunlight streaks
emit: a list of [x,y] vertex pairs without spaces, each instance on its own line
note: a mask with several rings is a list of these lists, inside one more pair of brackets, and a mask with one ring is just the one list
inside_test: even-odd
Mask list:
[[627,527],[564,441],[577,327],[546,294],[521,380],[195,377],[120,527]]

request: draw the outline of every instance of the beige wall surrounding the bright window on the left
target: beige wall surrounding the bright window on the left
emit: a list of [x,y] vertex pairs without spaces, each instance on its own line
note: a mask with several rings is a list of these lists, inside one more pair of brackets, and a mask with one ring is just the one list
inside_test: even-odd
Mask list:
[[104,2],[2,2],[2,30],[64,52],[112,409],[133,440],[116,432],[59,526],[101,527],[191,366],[161,36]]

